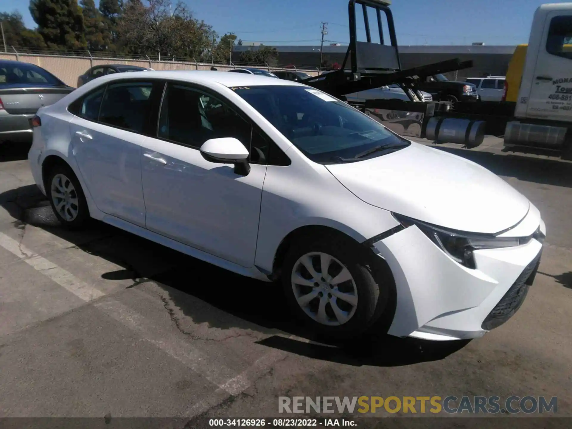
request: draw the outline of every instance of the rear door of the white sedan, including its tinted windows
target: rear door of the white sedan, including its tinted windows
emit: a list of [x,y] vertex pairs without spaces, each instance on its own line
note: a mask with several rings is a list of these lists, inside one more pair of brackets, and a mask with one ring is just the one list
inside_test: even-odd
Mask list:
[[84,97],[70,122],[74,157],[97,208],[141,227],[141,143],[152,88],[151,82],[109,84]]

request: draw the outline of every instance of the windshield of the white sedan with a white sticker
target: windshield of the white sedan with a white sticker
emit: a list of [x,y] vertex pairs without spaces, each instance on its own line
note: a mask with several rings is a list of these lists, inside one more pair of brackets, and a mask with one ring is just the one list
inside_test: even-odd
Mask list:
[[359,110],[307,86],[231,89],[321,164],[361,161],[411,144]]

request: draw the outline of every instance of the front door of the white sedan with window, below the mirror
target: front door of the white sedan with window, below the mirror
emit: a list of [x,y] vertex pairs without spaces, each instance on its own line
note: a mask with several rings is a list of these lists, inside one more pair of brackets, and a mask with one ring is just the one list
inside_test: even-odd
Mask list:
[[146,227],[252,267],[266,165],[251,162],[251,172],[241,176],[232,164],[206,161],[199,152],[206,140],[217,137],[236,137],[249,148],[251,135],[251,124],[226,102],[169,84],[158,137],[146,138],[141,153]]

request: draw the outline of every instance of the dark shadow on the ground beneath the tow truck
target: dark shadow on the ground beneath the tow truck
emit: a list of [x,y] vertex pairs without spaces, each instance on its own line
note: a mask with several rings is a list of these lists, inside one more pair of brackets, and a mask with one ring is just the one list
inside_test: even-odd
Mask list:
[[498,176],[509,176],[538,184],[572,188],[572,162],[534,158],[513,153],[497,154],[461,148],[446,148],[439,145],[431,145],[431,147],[476,162],[498,174]]

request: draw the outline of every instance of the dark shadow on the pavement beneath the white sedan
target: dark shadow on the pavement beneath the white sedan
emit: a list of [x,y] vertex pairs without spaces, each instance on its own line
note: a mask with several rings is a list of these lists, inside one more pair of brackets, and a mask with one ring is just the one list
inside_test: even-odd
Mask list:
[[378,333],[375,327],[349,344],[317,343],[319,338],[292,321],[278,284],[236,275],[98,221],[84,231],[64,229],[35,185],[1,193],[0,206],[14,218],[14,228],[42,228],[81,251],[121,267],[101,273],[103,279],[132,280],[127,288],[154,281],[193,323],[252,329],[267,335],[258,341],[266,347],[353,366],[403,366],[446,358],[468,343],[402,339]]

